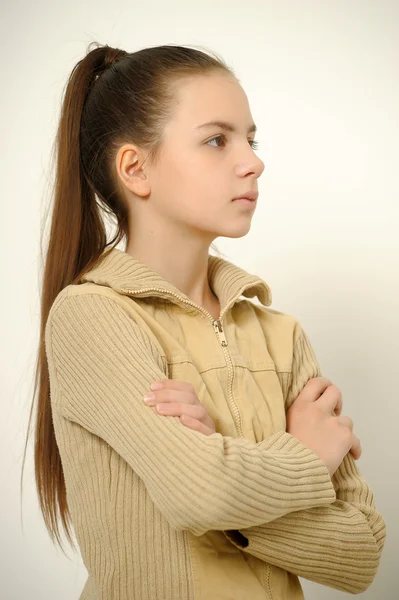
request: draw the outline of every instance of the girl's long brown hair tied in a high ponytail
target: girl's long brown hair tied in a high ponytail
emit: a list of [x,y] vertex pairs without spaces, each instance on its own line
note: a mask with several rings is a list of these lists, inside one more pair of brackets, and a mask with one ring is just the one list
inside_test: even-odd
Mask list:
[[[35,412],[34,469],[40,509],[53,543],[62,549],[59,519],[70,544],[71,514],[52,423],[44,345],[47,317],[58,293],[76,283],[109,246],[128,237],[128,209],[115,171],[118,148],[133,142],[156,164],[163,128],[174,110],[176,84],[184,77],[233,69],[215,53],[174,45],[126,52],[108,45],[90,49],[66,83],[53,160],[52,217],[41,287],[40,338],[21,472]],[[55,153],[54,153],[55,150]],[[104,217],[116,224],[107,241]],[[43,234],[42,234],[43,235]],[[43,261],[43,258],[42,258]]]

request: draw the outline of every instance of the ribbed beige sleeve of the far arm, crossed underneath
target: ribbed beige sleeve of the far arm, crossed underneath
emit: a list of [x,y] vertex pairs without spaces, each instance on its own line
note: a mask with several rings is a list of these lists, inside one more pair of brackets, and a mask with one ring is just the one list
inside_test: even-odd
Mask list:
[[[302,329],[294,349],[287,405],[309,379],[318,376],[320,366]],[[332,481],[336,490],[333,504],[292,512],[225,535],[244,552],[295,575],[353,594],[363,592],[378,570],[385,522],[350,453]]]

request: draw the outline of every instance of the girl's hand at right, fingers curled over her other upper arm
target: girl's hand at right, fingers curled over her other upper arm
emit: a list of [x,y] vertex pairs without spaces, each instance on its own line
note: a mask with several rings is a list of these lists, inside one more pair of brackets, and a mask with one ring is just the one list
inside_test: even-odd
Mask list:
[[341,416],[342,394],[325,377],[314,377],[287,410],[287,432],[315,452],[330,476],[350,451],[357,460],[362,449],[353,421]]

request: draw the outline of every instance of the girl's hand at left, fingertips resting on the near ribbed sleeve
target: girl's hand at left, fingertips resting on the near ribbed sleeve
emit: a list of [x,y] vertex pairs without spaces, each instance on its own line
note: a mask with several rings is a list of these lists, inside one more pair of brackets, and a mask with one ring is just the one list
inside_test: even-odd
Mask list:
[[146,402],[147,406],[155,406],[159,414],[180,417],[183,425],[204,435],[215,433],[215,423],[198,400],[191,383],[176,379],[161,379],[153,383],[162,387],[152,391],[154,398]]

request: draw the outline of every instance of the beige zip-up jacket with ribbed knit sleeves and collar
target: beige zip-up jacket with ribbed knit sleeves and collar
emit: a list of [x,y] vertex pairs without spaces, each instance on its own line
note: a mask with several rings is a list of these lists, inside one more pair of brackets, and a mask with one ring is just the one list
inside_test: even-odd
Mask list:
[[[52,305],[80,600],[301,600],[299,576],[359,593],[385,540],[373,494],[350,454],[331,479],[285,431],[287,407],[321,374],[309,339],[269,308],[256,275],[210,255],[209,281],[218,320],[114,248]],[[214,434],[143,403],[164,378],[194,386]]]

